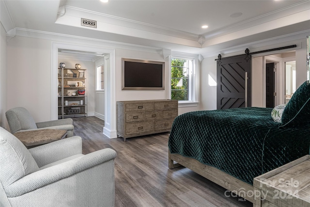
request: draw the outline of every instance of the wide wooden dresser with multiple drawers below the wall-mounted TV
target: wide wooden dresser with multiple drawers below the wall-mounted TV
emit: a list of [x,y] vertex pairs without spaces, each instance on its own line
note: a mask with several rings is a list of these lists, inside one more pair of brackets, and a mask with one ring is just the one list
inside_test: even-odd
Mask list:
[[124,138],[170,131],[177,100],[117,101],[117,135]]

